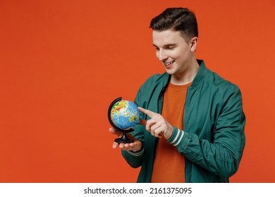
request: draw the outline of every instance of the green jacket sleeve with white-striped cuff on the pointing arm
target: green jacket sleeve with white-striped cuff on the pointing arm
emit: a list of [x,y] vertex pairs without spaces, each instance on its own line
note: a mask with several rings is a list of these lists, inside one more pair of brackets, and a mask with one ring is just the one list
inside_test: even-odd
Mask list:
[[213,140],[200,138],[197,134],[174,127],[169,142],[193,163],[214,174],[228,178],[238,170],[245,147],[245,115],[240,90],[231,91],[223,101],[221,112],[213,128]]

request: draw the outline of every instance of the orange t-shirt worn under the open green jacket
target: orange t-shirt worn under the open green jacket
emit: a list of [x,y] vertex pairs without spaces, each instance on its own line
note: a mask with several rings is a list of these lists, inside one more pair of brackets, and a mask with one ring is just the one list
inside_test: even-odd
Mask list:
[[[169,83],[164,93],[162,116],[178,129],[183,129],[185,98],[190,84],[178,86]],[[185,182],[185,158],[164,136],[157,144],[151,182]]]

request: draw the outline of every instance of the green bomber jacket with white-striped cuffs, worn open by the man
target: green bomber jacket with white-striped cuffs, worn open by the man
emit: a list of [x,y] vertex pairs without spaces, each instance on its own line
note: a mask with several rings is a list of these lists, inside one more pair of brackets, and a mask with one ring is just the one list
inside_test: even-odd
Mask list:
[[[184,131],[173,127],[167,140],[185,156],[186,182],[229,182],[240,165],[245,148],[245,114],[240,89],[207,69],[204,61],[197,60],[200,68],[185,101]],[[135,103],[160,113],[164,90],[170,75],[164,72],[152,75],[142,84]],[[149,117],[140,113],[140,120]],[[135,125],[131,133],[142,141],[138,152],[121,151],[131,167],[140,167],[137,182],[150,182],[158,139]],[[169,163],[169,160],[167,160]]]

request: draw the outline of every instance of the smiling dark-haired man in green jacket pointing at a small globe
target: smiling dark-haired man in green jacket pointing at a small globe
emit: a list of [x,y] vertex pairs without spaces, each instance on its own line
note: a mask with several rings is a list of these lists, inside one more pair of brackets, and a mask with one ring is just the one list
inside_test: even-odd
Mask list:
[[193,12],[167,8],[150,27],[166,72],[138,91],[141,124],[128,135],[134,142],[113,147],[130,166],[141,166],[138,182],[228,182],[245,147],[240,90],[196,59]]

